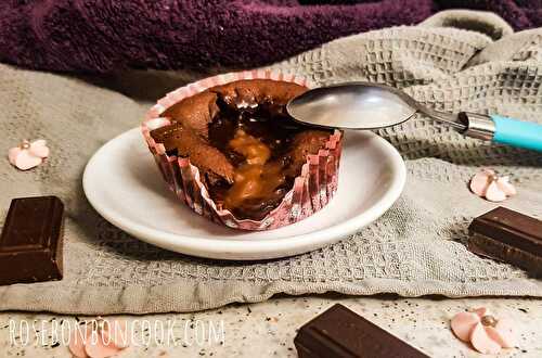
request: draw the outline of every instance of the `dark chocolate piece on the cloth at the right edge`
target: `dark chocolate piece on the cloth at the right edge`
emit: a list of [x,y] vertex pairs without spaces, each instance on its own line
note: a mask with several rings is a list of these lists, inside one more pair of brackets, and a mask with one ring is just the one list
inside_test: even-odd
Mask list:
[[498,207],[473,220],[468,250],[542,277],[542,221]]

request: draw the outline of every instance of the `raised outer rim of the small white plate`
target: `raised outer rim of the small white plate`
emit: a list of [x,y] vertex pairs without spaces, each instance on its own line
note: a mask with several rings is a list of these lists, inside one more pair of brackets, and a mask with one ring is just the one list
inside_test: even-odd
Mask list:
[[[390,188],[388,188],[385,194],[379,197],[375,204],[362,212],[362,214],[319,231],[272,240],[227,241],[212,238],[197,238],[197,240],[194,240],[194,238],[190,235],[169,233],[149,228],[145,225],[138,223],[126,217],[118,218],[116,217],[118,210],[108,208],[107,205],[101,204],[100,201],[96,201],[93,196],[92,180],[90,179],[91,175],[89,172],[91,172],[94,162],[96,162],[100,158],[100,154],[106,151],[109,145],[113,145],[116,140],[124,136],[128,137],[133,131],[139,132],[140,128],[136,127],[119,133],[94,152],[85,166],[82,175],[85,196],[98,214],[115,227],[126,231],[138,240],[185,255],[224,260],[255,260],[287,257],[318,250],[326,244],[340,241],[340,238],[347,238],[351,233],[359,231],[361,228],[379,218],[399,199],[406,181],[406,167],[397,149],[376,133],[363,131],[374,140],[373,143],[380,146],[385,155],[391,159],[391,167],[393,168],[395,175]],[[141,140],[143,142],[143,139]],[[360,216],[362,216],[361,222]],[[302,223],[302,220],[299,223]],[[242,246],[241,250],[240,245]],[[311,248],[307,250],[307,246]]]

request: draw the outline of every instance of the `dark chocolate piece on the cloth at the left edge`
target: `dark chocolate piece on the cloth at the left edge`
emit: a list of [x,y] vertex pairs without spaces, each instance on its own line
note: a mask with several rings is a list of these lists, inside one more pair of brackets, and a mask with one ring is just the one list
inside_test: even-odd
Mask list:
[[63,218],[56,196],[11,202],[0,236],[0,284],[62,279]]

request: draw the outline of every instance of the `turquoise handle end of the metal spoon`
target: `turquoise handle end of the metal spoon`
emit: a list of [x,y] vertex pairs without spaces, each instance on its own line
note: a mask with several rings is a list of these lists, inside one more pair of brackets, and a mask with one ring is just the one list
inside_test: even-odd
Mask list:
[[542,152],[542,125],[492,115],[493,142]]

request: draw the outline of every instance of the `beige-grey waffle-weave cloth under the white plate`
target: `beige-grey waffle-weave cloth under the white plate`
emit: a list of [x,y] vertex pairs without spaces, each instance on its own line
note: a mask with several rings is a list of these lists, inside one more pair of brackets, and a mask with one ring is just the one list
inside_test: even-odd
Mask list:
[[[513,34],[491,14],[438,14],[421,26],[343,38],[274,66],[322,85],[386,82],[441,111],[542,123],[542,29]],[[473,217],[496,206],[468,191],[470,176],[483,166],[509,175],[518,195],[504,205],[540,218],[542,154],[466,139],[422,116],[379,131],[406,162],[406,187],[384,217],[340,243],[291,258],[227,263],[166,252],[114,228],[85,199],[87,161],[138,126],[153,100],[194,75],[75,78],[0,65],[1,151],[24,138],[44,138],[52,149],[47,164],[27,172],[0,161],[0,220],[12,197],[55,194],[67,206],[65,278],[2,286],[0,309],[190,311],[327,291],[542,296],[542,281],[464,246]]]

